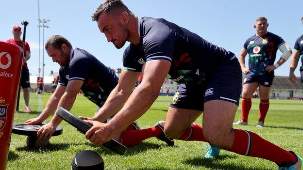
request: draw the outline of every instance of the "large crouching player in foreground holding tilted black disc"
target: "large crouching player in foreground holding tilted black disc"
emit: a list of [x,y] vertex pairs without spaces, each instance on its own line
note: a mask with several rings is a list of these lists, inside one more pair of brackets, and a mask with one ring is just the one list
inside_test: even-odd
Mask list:
[[[98,27],[116,48],[125,49],[119,90],[113,90],[104,106],[121,107],[108,123],[87,121],[85,134],[96,145],[108,141],[142,116],[159,95],[166,77],[182,83],[168,108],[165,134],[173,139],[207,141],[240,155],[261,157],[280,169],[297,170],[301,158],[257,134],[234,129],[233,120],[241,92],[242,74],[236,56],[197,34],[162,18],[137,17],[121,0],[106,0],[93,14]],[[140,72],[142,82],[129,92]],[[124,83],[121,86],[120,83]],[[123,101],[123,102],[120,102]],[[106,108],[105,107],[105,108]],[[193,123],[203,111],[203,128]],[[160,123],[160,124],[161,124]]]

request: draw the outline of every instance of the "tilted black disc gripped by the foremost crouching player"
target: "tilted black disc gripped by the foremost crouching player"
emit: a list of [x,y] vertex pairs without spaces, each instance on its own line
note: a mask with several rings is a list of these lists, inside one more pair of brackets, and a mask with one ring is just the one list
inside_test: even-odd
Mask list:
[[[87,124],[82,119],[70,113],[67,109],[60,107],[56,114],[65,120],[67,123],[73,125],[79,129],[84,134],[92,127],[90,124]],[[102,143],[106,148],[116,152],[117,154],[124,155],[126,153],[127,147],[119,143],[118,141],[111,139],[108,142]]]

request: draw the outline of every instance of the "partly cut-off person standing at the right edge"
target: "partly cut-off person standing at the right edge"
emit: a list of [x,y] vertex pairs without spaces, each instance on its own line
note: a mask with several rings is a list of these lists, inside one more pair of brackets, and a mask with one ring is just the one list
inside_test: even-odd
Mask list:
[[[301,18],[301,22],[303,24],[303,17]],[[303,88],[303,35],[301,35],[297,39],[294,49],[293,49],[292,58],[290,61],[289,80],[293,83],[296,83],[296,76],[295,76],[294,72],[298,66],[300,56],[301,56],[301,62],[302,62],[302,66],[300,67],[301,86]]]

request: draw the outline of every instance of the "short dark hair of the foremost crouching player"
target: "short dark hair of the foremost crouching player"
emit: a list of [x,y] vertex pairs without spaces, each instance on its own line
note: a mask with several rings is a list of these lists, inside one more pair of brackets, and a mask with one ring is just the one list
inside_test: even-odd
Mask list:
[[99,15],[103,12],[110,12],[112,9],[121,9],[126,12],[130,12],[126,5],[122,2],[122,0],[105,0],[101,5],[97,8],[96,12],[91,16],[93,21],[97,21]]

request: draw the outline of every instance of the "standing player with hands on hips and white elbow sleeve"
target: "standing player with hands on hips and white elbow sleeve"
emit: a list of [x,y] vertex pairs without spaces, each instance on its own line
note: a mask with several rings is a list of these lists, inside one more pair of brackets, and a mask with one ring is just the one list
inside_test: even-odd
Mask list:
[[[246,77],[243,80],[242,118],[235,123],[236,125],[248,124],[248,115],[252,106],[251,98],[254,91],[259,88],[260,112],[257,127],[264,127],[274,70],[286,62],[292,52],[281,37],[267,31],[268,25],[265,17],[257,18],[254,25],[256,34],[246,40],[240,52],[239,62]],[[283,54],[274,64],[278,49]],[[244,59],[247,54],[249,54],[249,67],[245,67]]]

